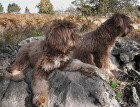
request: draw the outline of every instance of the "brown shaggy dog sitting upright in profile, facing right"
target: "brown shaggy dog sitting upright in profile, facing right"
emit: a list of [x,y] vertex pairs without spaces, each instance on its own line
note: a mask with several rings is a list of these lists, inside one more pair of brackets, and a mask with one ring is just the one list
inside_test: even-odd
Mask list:
[[126,36],[133,29],[131,24],[131,19],[124,14],[114,14],[95,31],[83,36],[81,46],[74,51],[74,58],[96,65],[114,77],[110,70],[116,70],[117,67],[111,63],[109,55],[116,38]]

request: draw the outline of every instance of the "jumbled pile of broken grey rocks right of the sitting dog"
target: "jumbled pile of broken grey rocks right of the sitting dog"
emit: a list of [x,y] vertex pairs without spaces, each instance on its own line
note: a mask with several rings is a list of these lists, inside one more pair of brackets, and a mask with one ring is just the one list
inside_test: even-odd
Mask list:
[[140,44],[131,41],[117,41],[113,48],[114,55],[120,65],[115,73],[119,80],[116,89],[122,90],[124,107],[140,107]]

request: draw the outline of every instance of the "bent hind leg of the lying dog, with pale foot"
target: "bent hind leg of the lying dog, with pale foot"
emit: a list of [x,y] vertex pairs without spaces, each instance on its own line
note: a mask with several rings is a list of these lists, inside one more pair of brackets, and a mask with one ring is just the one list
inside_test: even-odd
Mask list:
[[12,73],[11,79],[13,81],[22,81],[25,79],[23,71],[29,66],[29,59],[27,52],[19,51],[16,61],[11,65],[10,72]]

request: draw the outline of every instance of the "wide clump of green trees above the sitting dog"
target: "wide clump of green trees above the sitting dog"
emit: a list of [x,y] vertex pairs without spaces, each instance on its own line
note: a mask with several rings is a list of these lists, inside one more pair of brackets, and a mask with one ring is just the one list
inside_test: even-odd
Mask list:
[[74,0],[72,4],[81,11],[82,15],[107,13],[132,13],[136,10],[138,0]]

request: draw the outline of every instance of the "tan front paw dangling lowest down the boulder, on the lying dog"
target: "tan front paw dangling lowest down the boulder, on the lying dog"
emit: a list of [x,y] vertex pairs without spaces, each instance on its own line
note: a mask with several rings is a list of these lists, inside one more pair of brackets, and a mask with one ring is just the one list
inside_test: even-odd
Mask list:
[[45,107],[47,102],[48,96],[45,96],[43,94],[34,95],[33,97],[33,104],[37,107]]

